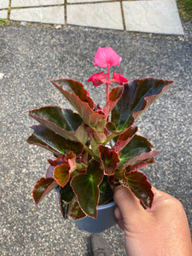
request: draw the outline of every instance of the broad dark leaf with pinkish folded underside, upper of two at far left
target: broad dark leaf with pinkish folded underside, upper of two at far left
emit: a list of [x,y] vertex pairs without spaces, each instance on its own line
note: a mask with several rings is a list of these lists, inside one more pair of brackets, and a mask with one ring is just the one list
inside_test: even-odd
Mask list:
[[70,109],[43,107],[29,111],[29,115],[41,125],[54,131],[61,137],[86,143],[88,133],[78,113]]

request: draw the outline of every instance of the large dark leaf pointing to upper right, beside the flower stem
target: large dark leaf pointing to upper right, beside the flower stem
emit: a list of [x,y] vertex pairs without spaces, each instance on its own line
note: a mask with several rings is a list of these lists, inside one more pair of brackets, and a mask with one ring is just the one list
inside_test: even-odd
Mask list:
[[173,81],[162,79],[137,79],[124,85],[124,92],[112,110],[112,122],[117,131],[133,124]]

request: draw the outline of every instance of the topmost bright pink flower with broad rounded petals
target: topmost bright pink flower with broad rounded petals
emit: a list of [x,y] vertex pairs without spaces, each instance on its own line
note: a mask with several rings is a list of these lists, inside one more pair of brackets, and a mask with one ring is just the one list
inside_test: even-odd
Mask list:
[[95,55],[95,63],[98,67],[111,67],[120,64],[122,58],[111,47],[99,47]]

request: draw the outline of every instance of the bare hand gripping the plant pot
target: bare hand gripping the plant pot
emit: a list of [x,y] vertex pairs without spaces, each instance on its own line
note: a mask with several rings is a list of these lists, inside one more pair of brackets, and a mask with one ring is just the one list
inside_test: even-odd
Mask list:
[[189,224],[183,205],[176,198],[154,189],[151,209],[144,210],[131,190],[114,192],[115,217],[125,232],[129,256],[191,256]]

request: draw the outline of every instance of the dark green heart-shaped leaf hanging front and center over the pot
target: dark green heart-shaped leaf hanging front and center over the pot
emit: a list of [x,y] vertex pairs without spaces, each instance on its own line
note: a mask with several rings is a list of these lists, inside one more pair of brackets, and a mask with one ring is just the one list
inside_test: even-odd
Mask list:
[[73,177],[71,186],[81,209],[90,217],[96,218],[96,207],[99,201],[99,185],[102,183],[101,164],[91,160],[87,172]]

